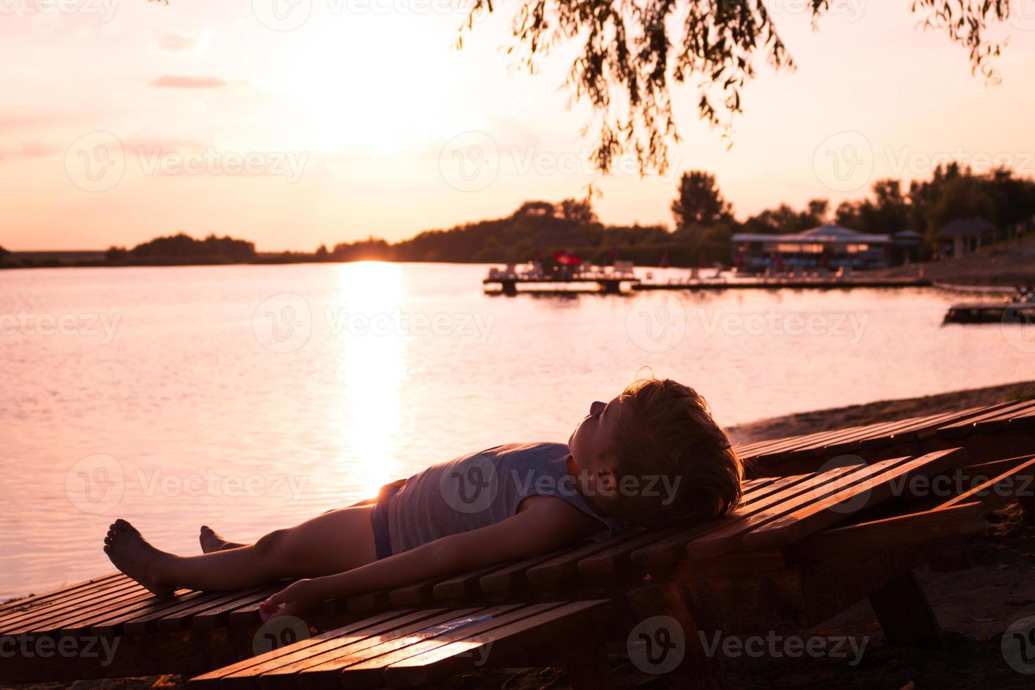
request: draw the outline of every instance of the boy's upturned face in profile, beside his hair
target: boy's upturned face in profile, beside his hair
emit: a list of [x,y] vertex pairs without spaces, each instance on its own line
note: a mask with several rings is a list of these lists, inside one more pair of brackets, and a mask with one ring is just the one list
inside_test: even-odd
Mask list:
[[621,415],[622,402],[617,397],[610,402],[593,402],[589,414],[568,439],[575,477],[591,504],[599,505],[601,500],[605,502],[614,494],[617,477],[612,451]]

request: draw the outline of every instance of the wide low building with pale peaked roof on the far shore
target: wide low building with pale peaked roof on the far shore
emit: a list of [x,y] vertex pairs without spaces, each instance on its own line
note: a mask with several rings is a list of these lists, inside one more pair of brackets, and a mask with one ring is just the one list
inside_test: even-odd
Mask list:
[[800,233],[737,233],[732,238],[738,269],[764,271],[780,265],[817,268],[886,266],[891,236],[860,233],[833,223]]

